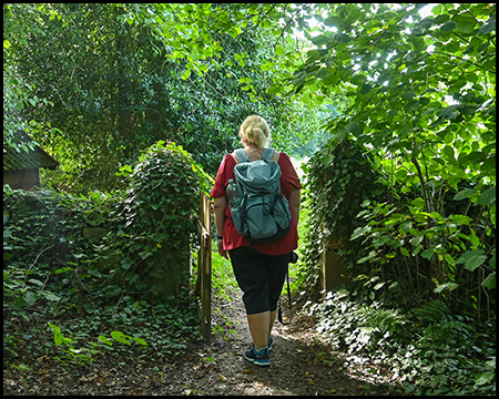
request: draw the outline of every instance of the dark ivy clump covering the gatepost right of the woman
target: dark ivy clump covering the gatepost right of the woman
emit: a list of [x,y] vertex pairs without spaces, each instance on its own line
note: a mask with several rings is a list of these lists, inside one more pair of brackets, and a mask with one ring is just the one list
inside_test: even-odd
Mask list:
[[[361,246],[350,245],[349,237],[361,226],[356,218],[366,198],[383,193],[376,183],[373,163],[363,146],[354,141],[330,143],[317,152],[306,165],[306,206],[312,209],[303,249],[308,279],[320,275],[324,246],[342,249],[347,264],[355,264]],[[317,284],[316,280],[315,284]],[[310,285],[310,282],[306,282]]]

